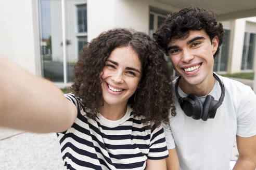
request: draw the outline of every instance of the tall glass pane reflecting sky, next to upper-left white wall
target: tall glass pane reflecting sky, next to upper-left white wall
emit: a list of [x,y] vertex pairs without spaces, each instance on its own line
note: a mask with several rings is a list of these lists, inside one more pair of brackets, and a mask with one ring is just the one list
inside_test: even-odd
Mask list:
[[63,82],[61,1],[40,0],[39,9],[42,75]]

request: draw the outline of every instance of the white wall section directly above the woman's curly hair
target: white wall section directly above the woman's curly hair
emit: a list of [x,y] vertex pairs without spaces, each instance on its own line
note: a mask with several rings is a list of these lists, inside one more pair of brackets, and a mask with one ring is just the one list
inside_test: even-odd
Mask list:
[[149,6],[170,12],[178,10],[156,0],[87,0],[88,41],[116,27],[132,28],[148,34]]

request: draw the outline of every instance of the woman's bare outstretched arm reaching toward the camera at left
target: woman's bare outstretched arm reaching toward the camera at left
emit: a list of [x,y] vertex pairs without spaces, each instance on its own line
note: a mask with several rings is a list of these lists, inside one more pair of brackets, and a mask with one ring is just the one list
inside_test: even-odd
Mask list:
[[0,57],[0,126],[63,132],[76,117],[73,103],[52,82]]

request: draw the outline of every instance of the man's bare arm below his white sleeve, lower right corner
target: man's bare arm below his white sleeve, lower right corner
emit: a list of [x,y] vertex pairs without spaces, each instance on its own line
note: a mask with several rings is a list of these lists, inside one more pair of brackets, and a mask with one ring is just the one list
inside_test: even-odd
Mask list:
[[236,136],[239,157],[234,170],[255,170],[256,168],[256,135],[252,137]]

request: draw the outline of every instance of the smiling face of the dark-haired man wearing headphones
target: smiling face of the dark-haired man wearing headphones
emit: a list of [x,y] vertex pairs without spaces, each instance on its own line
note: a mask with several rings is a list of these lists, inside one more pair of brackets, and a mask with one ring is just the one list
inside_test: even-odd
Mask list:
[[189,31],[187,37],[171,40],[168,44],[169,57],[176,72],[182,76],[184,86],[207,85],[213,79],[213,54],[218,43],[217,36],[211,43],[204,30]]

